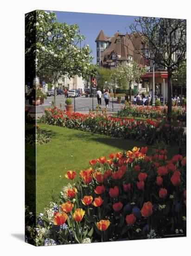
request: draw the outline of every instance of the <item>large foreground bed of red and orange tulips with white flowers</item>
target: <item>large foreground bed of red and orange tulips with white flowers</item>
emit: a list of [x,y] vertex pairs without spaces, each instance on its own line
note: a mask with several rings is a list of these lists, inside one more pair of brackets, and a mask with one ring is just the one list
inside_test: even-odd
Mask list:
[[70,183],[60,202],[26,222],[26,241],[35,245],[94,243],[186,236],[186,157],[167,160],[166,149],[147,148],[89,161],[66,171]]

